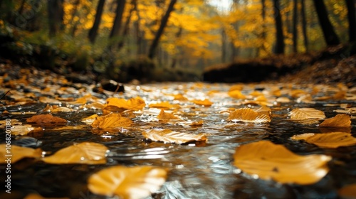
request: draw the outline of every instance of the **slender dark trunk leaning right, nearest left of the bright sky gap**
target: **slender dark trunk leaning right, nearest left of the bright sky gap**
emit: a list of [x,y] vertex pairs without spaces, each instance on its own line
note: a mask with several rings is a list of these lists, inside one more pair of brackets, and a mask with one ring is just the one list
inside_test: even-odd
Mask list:
[[174,9],[174,4],[177,2],[177,0],[171,0],[168,6],[168,9],[166,11],[166,14],[164,14],[164,16],[162,17],[161,20],[161,24],[159,25],[158,31],[155,35],[155,38],[152,41],[152,44],[150,45],[150,50],[148,51],[148,58],[152,59],[153,57],[155,57],[155,50],[157,48],[158,42],[159,42],[159,38],[161,38],[162,33],[164,31],[164,27],[167,26],[167,21],[169,18],[169,14],[171,14],[171,12]]

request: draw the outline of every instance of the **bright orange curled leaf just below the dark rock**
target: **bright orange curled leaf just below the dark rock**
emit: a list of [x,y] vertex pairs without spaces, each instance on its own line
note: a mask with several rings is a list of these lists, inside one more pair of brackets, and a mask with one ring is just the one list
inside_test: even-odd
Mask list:
[[145,100],[143,100],[141,97],[130,98],[128,100],[110,97],[106,99],[104,109],[108,109],[110,111],[121,111],[123,109],[140,110],[145,106]]

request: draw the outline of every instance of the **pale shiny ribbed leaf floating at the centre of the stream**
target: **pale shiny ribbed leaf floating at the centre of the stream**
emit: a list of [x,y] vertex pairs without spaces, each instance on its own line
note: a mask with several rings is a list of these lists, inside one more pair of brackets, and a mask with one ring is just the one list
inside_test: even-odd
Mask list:
[[151,129],[142,132],[146,139],[152,141],[163,141],[164,143],[184,144],[192,141],[206,141],[205,134],[187,134],[170,129]]

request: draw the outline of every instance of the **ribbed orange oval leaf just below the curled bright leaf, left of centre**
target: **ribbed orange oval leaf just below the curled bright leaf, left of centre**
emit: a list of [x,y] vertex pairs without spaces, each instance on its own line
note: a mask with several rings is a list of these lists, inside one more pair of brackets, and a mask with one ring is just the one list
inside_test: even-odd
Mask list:
[[115,129],[130,127],[132,120],[122,117],[120,114],[110,113],[105,116],[97,117],[91,126],[94,129]]

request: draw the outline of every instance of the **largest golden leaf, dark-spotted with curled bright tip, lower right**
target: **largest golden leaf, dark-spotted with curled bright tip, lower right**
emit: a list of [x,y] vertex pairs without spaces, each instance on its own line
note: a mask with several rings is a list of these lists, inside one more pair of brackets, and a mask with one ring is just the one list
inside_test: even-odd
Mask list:
[[308,185],[317,183],[329,171],[330,156],[299,156],[271,141],[257,141],[236,148],[234,165],[263,180]]

